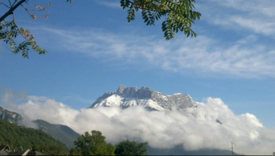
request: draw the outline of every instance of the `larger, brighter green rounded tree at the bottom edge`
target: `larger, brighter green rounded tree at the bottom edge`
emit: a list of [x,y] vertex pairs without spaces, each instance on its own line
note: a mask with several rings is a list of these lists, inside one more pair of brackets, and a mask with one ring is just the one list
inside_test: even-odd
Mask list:
[[74,142],[75,148],[71,150],[70,155],[115,155],[115,146],[106,143],[105,138],[100,131],[93,130],[92,135],[85,132]]

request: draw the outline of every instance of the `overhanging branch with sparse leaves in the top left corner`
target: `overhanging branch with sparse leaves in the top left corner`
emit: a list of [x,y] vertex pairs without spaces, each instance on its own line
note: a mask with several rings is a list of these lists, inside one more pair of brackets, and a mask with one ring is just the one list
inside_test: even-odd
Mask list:
[[[9,2],[9,3],[8,3]],[[32,13],[33,11],[43,11],[50,7],[52,4],[47,4],[42,7],[38,4],[30,4],[28,0],[15,0],[13,2],[0,1],[0,4],[7,7],[7,12],[0,17],[0,40],[3,40],[11,47],[11,52],[14,54],[21,53],[23,58],[29,58],[29,50],[33,49],[38,54],[45,54],[46,50],[41,49],[34,41],[34,36],[27,29],[19,28],[15,22],[14,10],[18,7],[23,7],[32,19],[38,19],[37,15]],[[25,5],[28,5],[26,7]],[[12,21],[5,21],[5,18],[12,15]],[[43,18],[48,18],[49,15],[44,15]],[[21,36],[23,41],[17,44],[15,38]]]

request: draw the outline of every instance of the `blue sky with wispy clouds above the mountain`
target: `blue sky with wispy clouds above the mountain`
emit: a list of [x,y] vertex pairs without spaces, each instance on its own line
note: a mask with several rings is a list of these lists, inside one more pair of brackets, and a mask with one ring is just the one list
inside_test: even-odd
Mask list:
[[147,86],[195,101],[221,98],[234,113],[275,127],[273,1],[197,0],[198,37],[178,33],[172,41],[163,37],[161,21],[146,26],[138,14],[128,24],[119,1],[37,3],[53,4],[41,14],[49,20],[32,20],[24,10],[15,16],[48,53],[30,52],[24,60],[1,42],[0,93],[8,87],[80,109],[121,84]]

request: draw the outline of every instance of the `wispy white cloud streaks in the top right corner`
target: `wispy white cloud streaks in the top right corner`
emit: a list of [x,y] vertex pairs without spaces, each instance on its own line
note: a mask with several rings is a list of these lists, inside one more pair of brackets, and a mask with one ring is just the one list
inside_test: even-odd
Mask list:
[[[247,29],[253,33],[273,36],[275,34],[275,4],[273,1],[207,1],[212,6],[200,6],[203,18],[210,24],[228,29]],[[228,11],[226,11],[228,10]]]

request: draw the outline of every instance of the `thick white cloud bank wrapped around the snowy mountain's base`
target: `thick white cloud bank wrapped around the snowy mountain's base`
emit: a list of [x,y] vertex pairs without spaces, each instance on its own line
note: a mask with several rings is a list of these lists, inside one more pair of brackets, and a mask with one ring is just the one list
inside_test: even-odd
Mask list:
[[[143,107],[97,107],[74,110],[46,97],[27,96],[27,101],[9,104],[5,93],[5,108],[24,118],[42,119],[52,124],[67,125],[79,134],[98,130],[110,143],[123,140],[148,142],[153,148],[169,149],[182,144],[185,150],[204,148],[228,149],[246,155],[270,155],[275,146],[275,131],[265,128],[250,113],[235,115],[220,98],[209,97],[197,109],[183,112],[147,111]],[[222,124],[215,122],[218,119]]]

